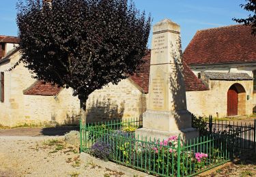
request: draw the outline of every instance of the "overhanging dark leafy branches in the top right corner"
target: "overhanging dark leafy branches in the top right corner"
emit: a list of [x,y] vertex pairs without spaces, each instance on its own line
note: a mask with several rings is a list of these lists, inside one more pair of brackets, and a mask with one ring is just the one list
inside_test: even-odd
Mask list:
[[240,6],[252,14],[249,14],[247,18],[233,18],[233,20],[244,25],[250,25],[251,33],[256,35],[256,0],[246,0],[246,2],[246,4]]

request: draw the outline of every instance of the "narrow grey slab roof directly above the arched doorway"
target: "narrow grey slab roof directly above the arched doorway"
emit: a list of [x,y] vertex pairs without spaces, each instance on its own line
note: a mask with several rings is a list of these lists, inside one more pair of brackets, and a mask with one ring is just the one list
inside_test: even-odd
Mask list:
[[253,80],[253,78],[246,73],[205,72],[204,74],[210,80]]

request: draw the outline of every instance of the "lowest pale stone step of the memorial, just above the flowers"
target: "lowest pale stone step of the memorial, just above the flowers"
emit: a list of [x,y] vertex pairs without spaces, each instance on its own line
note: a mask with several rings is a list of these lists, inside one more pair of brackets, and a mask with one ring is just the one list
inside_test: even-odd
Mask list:
[[139,135],[139,140],[143,141],[145,141],[146,138],[147,141],[150,141],[150,139],[152,141],[154,141],[154,139],[162,141],[168,139],[170,136],[180,135],[182,140],[186,142],[199,137],[199,131],[195,128],[181,129],[177,131],[160,131],[156,129],[141,128],[135,131],[135,135],[136,137]]

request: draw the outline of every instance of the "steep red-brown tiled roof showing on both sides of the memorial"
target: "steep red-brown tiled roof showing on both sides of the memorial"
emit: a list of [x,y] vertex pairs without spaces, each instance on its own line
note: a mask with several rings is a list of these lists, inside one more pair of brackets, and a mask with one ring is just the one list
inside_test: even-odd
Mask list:
[[[143,67],[143,73],[140,73],[139,76],[131,76],[130,78],[141,88],[143,88],[143,91],[145,93],[148,93],[149,90],[149,83],[150,83],[150,57],[151,52],[149,51],[147,55],[144,57],[146,63],[144,63]],[[184,66],[184,82],[186,91],[206,91],[208,90],[208,87],[203,84],[203,82],[195,76],[193,71],[186,65],[186,63],[183,63]]]

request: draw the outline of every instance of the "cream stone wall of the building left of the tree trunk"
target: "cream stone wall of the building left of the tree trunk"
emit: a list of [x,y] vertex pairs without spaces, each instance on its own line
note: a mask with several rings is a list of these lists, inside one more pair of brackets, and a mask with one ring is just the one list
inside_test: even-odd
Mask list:
[[[0,71],[10,69],[20,58],[16,52],[8,63],[0,65]],[[12,71],[5,71],[5,101],[0,103],[0,124],[45,125],[49,123],[72,124],[79,120],[79,99],[72,96],[72,89],[63,89],[57,97],[23,95],[35,79],[20,63]]]

